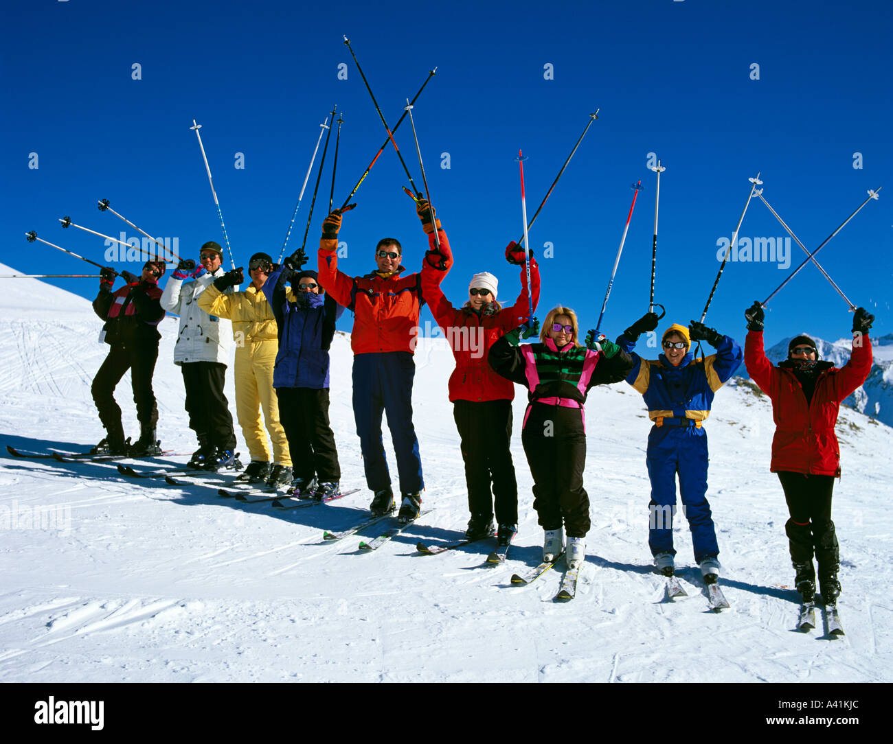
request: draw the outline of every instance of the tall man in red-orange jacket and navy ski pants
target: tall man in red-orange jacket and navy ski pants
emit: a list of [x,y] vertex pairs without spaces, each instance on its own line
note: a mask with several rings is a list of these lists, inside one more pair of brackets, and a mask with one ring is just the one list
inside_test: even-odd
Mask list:
[[[421,275],[402,272],[403,247],[386,237],[375,246],[376,270],[364,277],[348,277],[338,271],[338,230],[344,210],[333,211],[322,222],[319,252],[319,284],[339,305],[354,312],[351,349],[354,350],[354,417],[360,437],[366,484],[373,492],[370,509],[385,515],[394,509],[388,461],[381,440],[381,415],[388,416],[400,476],[401,503],[398,521],[405,524],[419,516],[421,475],[419,441],[413,426],[413,351],[419,332],[419,310],[425,302]],[[431,222],[428,202],[421,200],[416,212],[436,249],[435,229],[441,246],[448,250],[447,234],[436,219]]]

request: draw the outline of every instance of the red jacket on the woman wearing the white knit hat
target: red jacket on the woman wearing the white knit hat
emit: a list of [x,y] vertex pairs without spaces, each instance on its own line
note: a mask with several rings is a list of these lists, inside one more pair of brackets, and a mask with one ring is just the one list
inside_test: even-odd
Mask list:
[[[441,245],[447,255],[447,267],[453,264],[449,246]],[[530,314],[527,294],[527,269],[521,268],[521,294],[512,307],[499,310],[496,315],[481,317],[475,312],[456,310],[444,293],[440,282],[447,272],[432,269],[426,261],[421,268],[421,287],[425,299],[447,337],[455,357],[455,370],[449,378],[450,401],[512,401],[514,384],[497,375],[487,363],[490,346],[507,331],[520,326]],[[530,289],[533,309],[539,302],[539,268],[530,259]]]

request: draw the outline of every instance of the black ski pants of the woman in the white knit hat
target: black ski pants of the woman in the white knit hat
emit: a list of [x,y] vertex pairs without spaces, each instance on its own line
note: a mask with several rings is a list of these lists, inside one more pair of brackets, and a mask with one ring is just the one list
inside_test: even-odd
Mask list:
[[497,524],[517,525],[518,483],[509,451],[512,401],[453,401],[453,417],[462,441],[472,517],[492,516],[495,500]]

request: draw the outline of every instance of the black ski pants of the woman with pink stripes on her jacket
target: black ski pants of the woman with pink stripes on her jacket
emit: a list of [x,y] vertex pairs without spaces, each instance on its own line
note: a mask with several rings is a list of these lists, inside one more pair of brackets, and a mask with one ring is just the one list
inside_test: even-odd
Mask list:
[[589,496],[583,488],[586,431],[583,411],[530,403],[521,436],[533,475],[533,508],[544,530],[564,525],[568,537],[586,537]]

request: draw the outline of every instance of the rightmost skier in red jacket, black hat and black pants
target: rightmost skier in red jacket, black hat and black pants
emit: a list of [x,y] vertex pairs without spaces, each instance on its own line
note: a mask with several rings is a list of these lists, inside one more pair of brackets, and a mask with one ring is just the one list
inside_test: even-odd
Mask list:
[[872,368],[872,342],[868,331],[874,316],[859,308],[853,318],[853,352],[847,364],[835,368],[819,360],[815,342],[798,335],[788,346],[788,359],[772,365],[763,351],[764,311],[755,302],[745,311],[747,372],[772,399],[775,436],[772,439],[772,473],[778,473],[788,502],[785,525],[795,583],[804,602],[815,594],[813,556],[819,565],[819,583],[826,605],[840,593],[840,550],[831,521],[831,492],[840,476],[840,447],[834,425],[840,401],[853,393]]

